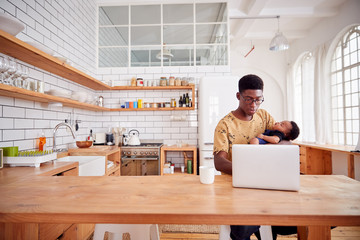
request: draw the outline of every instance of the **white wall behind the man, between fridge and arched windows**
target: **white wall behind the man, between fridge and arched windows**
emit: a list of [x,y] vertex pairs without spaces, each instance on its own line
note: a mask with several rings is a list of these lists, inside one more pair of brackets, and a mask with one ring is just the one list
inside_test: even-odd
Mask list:
[[256,74],[264,81],[265,101],[261,108],[266,109],[276,121],[285,119],[286,109],[286,59],[287,52],[272,52],[269,41],[253,41],[254,50],[245,58],[252,48],[251,42],[243,39],[231,41],[231,72],[243,76]]

